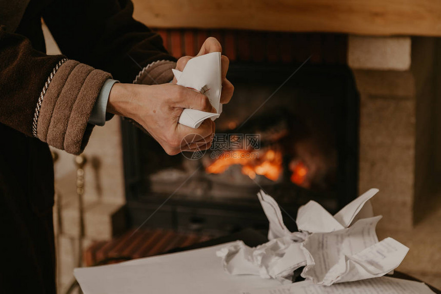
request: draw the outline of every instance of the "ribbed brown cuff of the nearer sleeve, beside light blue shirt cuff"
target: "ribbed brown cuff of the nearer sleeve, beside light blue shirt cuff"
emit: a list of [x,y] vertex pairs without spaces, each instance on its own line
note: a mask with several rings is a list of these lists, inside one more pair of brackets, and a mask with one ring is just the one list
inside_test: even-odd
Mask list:
[[87,122],[106,79],[112,76],[75,60],[53,76],[38,116],[37,137],[55,148],[80,154],[91,128]]

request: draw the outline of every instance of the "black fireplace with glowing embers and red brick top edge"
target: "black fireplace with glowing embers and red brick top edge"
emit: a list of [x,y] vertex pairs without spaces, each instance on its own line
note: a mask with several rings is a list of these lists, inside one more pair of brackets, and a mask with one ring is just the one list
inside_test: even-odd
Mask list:
[[265,231],[268,221],[256,197],[262,188],[295,229],[296,211],[309,200],[333,213],[356,197],[359,98],[346,65],[345,36],[160,33],[175,56],[194,55],[189,51],[201,40],[216,36],[231,59],[228,79],[235,93],[216,120],[206,152],[168,156],[122,121],[133,226],[213,234],[245,227]]

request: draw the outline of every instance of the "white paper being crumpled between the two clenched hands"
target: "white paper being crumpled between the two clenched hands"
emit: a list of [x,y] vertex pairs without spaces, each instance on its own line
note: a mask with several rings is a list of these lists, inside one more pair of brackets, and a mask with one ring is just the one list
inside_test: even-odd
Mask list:
[[220,52],[197,56],[187,62],[182,72],[173,70],[177,85],[203,93],[216,109],[216,113],[184,109],[179,117],[179,123],[197,129],[205,119],[211,118],[214,120],[219,117],[222,112],[222,104],[220,104],[220,92],[222,91],[220,56]]

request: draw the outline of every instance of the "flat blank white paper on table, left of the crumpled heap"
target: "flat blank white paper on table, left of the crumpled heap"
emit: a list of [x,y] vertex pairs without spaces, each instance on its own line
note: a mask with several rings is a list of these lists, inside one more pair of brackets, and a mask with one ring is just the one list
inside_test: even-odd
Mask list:
[[85,294],[226,294],[251,287],[275,287],[276,280],[229,275],[215,253],[237,242],[157,257],[76,268],[74,276]]

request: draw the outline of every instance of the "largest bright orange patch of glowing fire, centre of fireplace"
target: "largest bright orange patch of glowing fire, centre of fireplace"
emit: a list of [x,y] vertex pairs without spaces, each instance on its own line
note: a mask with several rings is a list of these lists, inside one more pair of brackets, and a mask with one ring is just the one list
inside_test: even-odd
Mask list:
[[263,155],[247,150],[225,152],[213,161],[206,171],[210,174],[220,174],[233,164],[242,165],[242,173],[251,179],[255,179],[256,175],[262,175],[276,181],[282,174],[282,152],[272,149]]

